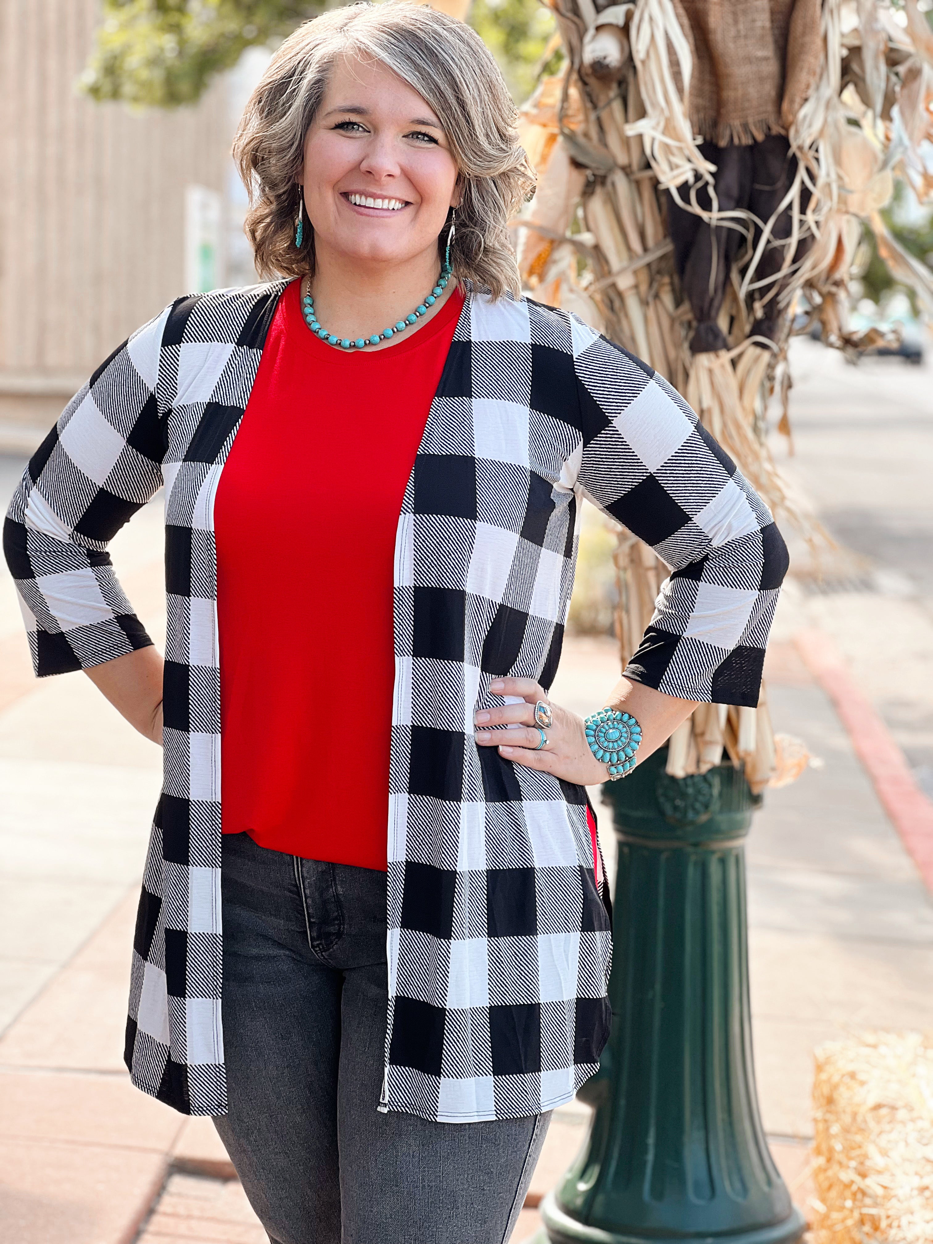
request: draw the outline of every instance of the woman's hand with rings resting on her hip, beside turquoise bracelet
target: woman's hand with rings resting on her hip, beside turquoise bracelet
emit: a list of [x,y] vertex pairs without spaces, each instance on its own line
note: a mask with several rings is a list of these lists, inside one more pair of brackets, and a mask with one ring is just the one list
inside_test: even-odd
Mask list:
[[[476,744],[480,748],[499,748],[505,760],[540,769],[564,781],[581,786],[595,786],[608,778],[606,765],[590,750],[582,717],[570,713],[560,704],[552,704],[537,683],[530,678],[498,678],[489,688],[495,695],[521,695],[521,704],[504,704],[486,708],[474,714]],[[554,715],[554,725],[545,730],[547,741],[537,749],[541,733],[535,724],[535,704],[547,704]],[[503,730],[504,725],[521,725],[522,729]]]

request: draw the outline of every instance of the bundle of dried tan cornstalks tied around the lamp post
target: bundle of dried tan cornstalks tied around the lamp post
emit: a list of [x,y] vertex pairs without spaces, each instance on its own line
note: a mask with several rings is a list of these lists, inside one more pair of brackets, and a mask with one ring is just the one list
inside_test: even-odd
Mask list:
[[[914,285],[928,282],[933,305],[933,282],[914,272],[922,265],[901,251],[878,216],[892,189],[886,153],[899,151],[901,173],[919,187],[922,164],[912,153],[927,132],[933,133],[933,32],[917,0],[906,0],[907,26],[897,25],[883,0],[824,0],[820,70],[789,126],[796,174],[768,221],[755,221],[750,213],[743,219],[741,211],[719,219],[698,205],[697,188],[709,185],[715,169],[702,156],[688,117],[692,51],[679,0],[608,7],[593,0],[546,2],[566,62],[561,73],[540,82],[520,111],[522,142],[539,174],[537,194],[516,223],[526,289],[542,302],[576,312],[666,376],[775,516],[794,524],[811,544],[829,541],[775,466],[765,440],[765,408],[780,381],[780,427],[789,434],[787,342],[801,291],[830,345],[851,350],[865,343],[845,323],[862,220],[878,230],[899,280],[907,272]],[[926,42],[923,31],[931,34]],[[907,143],[898,131],[897,148],[894,102],[909,131]],[[926,183],[922,188],[933,189]],[[725,221],[748,239],[718,317],[728,350],[692,355],[688,347],[694,322],[674,270],[668,193],[705,223]],[[761,277],[766,244],[787,208],[794,244],[782,248],[780,271]],[[760,234],[754,246],[753,225]],[[802,238],[811,239],[809,250],[796,246]],[[775,307],[778,338],[751,336],[763,315],[775,318]],[[668,570],[626,532],[615,561],[616,629],[624,664],[651,621]],[[723,751],[745,766],[755,790],[792,780],[805,764],[799,745],[775,741],[764,693],[758,709],[698,709],[672,740],[668,771],[700,773]]]

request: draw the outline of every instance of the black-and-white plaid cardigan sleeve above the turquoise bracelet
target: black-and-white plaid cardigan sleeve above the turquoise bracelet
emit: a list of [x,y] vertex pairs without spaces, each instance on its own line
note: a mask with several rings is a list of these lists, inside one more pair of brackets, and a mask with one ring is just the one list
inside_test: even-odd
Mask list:
[[787,570],[768,506],[663,377],[605,338],[576,358],[577,484],[671,567],[624,674],[668,695],[758,704]]

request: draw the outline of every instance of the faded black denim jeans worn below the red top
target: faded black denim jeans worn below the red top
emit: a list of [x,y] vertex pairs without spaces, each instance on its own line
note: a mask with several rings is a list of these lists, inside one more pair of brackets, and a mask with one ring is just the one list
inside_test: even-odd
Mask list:
[[272,1244],[505,1244],[550,1113],[377,1111],[386,873],[224,836],[224,1049],[214,1120]]

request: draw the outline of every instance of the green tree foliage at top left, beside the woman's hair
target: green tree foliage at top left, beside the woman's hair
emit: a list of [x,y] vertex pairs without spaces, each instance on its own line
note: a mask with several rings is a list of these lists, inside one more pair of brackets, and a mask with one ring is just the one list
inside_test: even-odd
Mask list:
[[312,0],[103,0],[81,85],[95,100],[194,103],[254,44],[284,39],[323,7]]

